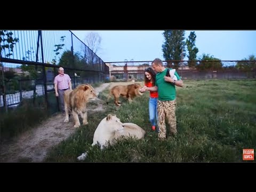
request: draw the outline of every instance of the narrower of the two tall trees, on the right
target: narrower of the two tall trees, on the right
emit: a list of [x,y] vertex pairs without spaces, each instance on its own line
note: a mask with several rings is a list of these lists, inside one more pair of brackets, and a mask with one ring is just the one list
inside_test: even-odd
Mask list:
[[196,47],[196,34],[195,31],[191,31],[188,39],[186,40],[186,45],[188,49],[188,67],[194,68],[196,66],[196,54],[198,53],[198,49]]

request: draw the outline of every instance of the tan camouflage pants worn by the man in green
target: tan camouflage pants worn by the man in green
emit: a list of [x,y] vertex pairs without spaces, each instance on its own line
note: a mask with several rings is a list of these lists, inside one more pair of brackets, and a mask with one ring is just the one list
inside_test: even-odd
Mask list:
[[158,139],[166,138],[166,125],[165,117],[168,119],[168,124],[170,125],[171,134],[175,135],[177,133],[176,129],[176,100],[173,101],[157,101],[157,113],[158,113]]

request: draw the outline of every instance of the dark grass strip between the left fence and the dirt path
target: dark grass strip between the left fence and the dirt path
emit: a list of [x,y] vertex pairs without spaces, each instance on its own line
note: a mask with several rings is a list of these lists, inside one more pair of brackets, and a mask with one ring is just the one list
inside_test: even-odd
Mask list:
[[[100,83],[93,84],[94,87]],[[47,93],[48,109],[46,108],[44,96],[36,97],[35,104],[33,99],[23,99],[18,107],[9,108],[6,113],[4,108],[0,111],[0,131],[1,142],[12,140],[21,133],[33,129],[35,125],[43,119],[58,112],[57,98],[54,92]],[[98,105],[90,103],[91,108]]]

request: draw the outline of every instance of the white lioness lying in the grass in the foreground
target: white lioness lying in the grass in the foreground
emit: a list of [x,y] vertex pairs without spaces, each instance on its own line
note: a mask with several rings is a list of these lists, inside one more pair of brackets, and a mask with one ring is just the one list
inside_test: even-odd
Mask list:
[[[124,137],[132,137],[134,139],[143,139],[145,131],[134,123],[122,123],[116,115],[108,114],[103,118],[98,125],[93,135],[92,146],[99,144],[100,148],[107,147],[108,144],[113,145],[116,139]],[[87,153],[83,153],[77,157],[78,160],[83,160]]]

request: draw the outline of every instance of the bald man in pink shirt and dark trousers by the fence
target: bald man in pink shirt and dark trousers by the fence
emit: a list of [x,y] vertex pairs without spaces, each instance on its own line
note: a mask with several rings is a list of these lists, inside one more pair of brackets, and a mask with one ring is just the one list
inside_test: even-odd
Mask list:
[[64,74],[64,69],[59,68],[59,75],[54,78],[54,89],[56,97],[59,97],[59,105],[61,112],[65,112],[64,108],[64,91],[72,89],[71,79],[68,74]]

